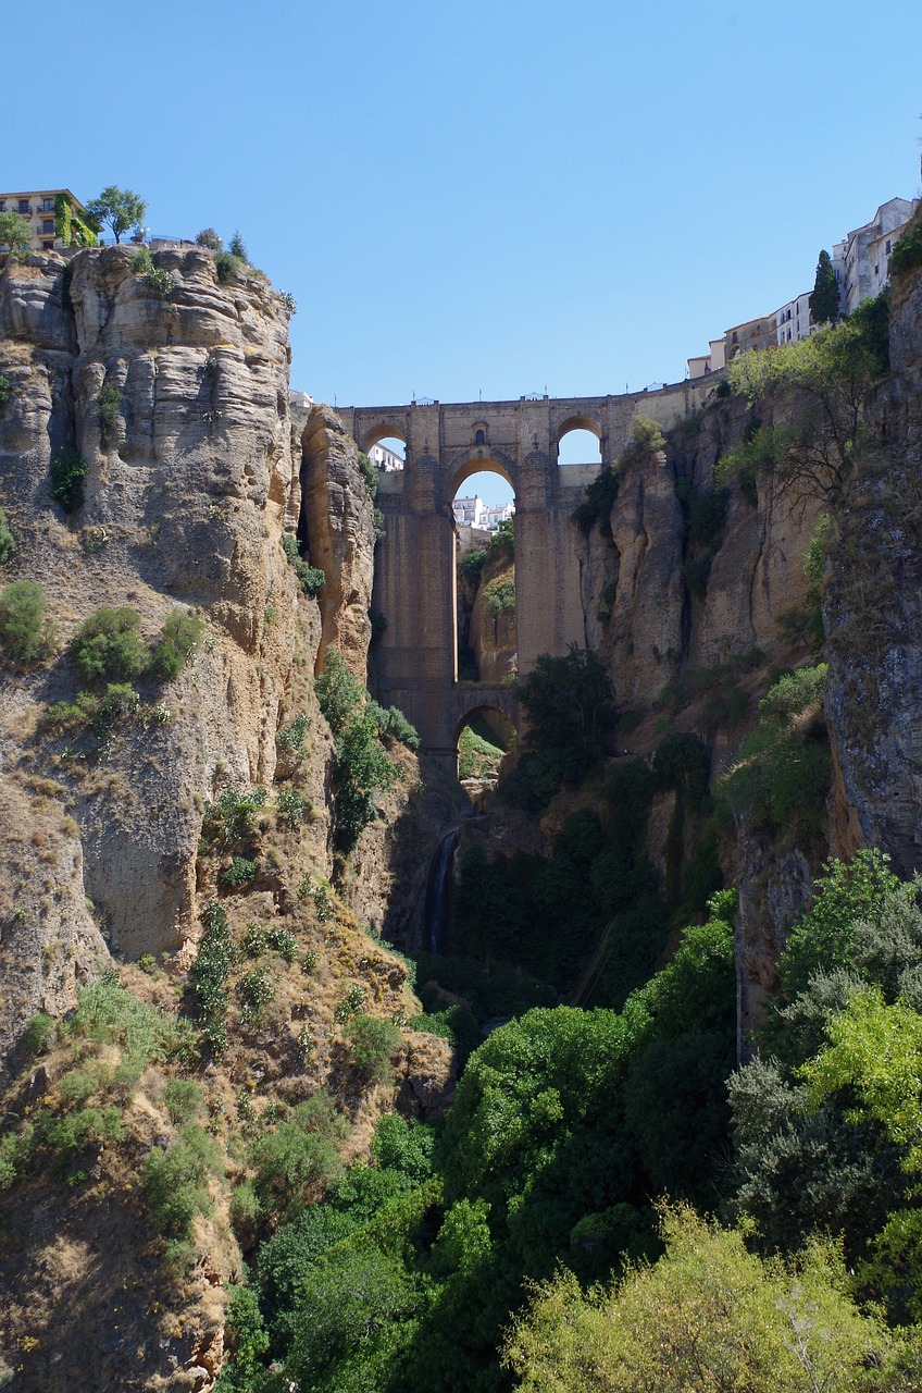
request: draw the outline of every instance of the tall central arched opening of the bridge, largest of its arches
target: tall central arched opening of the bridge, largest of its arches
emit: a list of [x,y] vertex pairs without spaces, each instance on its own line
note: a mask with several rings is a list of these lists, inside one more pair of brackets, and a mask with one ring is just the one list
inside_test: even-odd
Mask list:
[[457,680],[511,681],[518,669],[515,495],[506,471],[471,461],[458,474],[451,513]]

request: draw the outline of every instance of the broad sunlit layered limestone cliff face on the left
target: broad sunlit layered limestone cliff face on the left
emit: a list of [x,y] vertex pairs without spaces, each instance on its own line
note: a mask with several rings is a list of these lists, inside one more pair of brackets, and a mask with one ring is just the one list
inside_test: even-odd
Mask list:
[[[173,281],[160,298],[132,258],[124,247],[47,254],[0,279],[0,372],[13,384],[0,407],[0,504],[17,543],[4,579],[42,584],[57,635],[46,667],[18,674],[0,710],[0,798],[21,802],[14,781],[26,773],[53,777],[57,791],[43,797],[74,823],[45,872],[49,897],[70,897],[72,912],[39,926],[39,901],[24,900],[0,970],[29,935],[36,951],[70,939],[71,965],[47,988],[58,995],[104,951],[85,896],[127,956],[195,932],[203,805],[228,784],[272,780],[292,664],[301,648],[312,666],[319,638],[316,603],[280,546],[299,468],[281,297],[249,270],[221,284],[194,248],[155,256]],[[107,429],[103,386],[116,401]],[[50,496],[65,447],[89,465],[85,503],[70,515]],[[195,613],[205,635],[175,680],[138,683],[152,715],[120,722],[84,758],[36,724],[47,702],[79,690],[67,644],[102,605],[135,609],[148,644],[175,609]],[[7,667],[3,681],[10,690]],[[323,818],[312,832],[326,836]],[[29,857],[19,854],[19,876]],[[7,997],[10,1029],[40,996]]]

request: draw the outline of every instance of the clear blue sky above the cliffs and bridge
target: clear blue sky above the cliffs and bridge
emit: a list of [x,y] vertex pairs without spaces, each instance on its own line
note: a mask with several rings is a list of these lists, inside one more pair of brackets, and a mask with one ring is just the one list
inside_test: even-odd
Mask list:
[[46,0],[3,38],[4,189],[240,228],[340,405],[678,380],[919,192],[918,0]]

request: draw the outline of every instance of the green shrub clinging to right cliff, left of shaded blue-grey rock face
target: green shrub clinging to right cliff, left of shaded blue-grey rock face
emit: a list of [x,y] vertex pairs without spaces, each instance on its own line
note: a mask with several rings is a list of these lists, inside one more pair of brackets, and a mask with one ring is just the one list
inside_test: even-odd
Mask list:
[[759,720],[741,747],[740,762],[721,780],[721,795],[737,814],[769,826],[816,826],[830,780],[823,720],[826,664],[781,677],[759,702]]

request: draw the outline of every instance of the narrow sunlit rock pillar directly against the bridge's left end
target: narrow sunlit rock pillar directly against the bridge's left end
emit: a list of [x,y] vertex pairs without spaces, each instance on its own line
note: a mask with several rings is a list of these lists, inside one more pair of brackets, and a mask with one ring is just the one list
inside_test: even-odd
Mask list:
[[326,574],[318,671],[337,648],[365,681],[372,625],[375,504],[358,468],[358,450],[330,407],[315,405],[301,437],[301,486],[311,563]]

